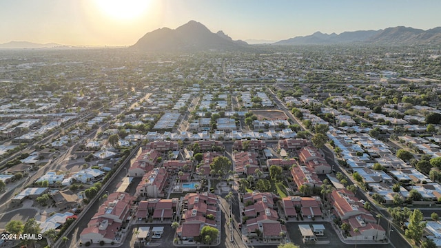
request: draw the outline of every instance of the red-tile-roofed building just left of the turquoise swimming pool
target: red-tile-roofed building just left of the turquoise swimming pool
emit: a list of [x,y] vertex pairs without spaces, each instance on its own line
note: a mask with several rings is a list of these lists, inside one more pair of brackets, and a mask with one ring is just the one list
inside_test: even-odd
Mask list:
[[165,168],[154,168],[143,176],[136,187],[136,195],[142,197],[163,197],[164,188],[167,185],[168,172]]

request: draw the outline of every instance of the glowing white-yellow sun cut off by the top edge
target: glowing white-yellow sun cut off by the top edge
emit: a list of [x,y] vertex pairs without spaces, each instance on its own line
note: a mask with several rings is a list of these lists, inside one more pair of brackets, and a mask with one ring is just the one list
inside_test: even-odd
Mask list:
[[121,20],[140,17],[149,6],[147,0],[95,0],[95,2],[105,14]]

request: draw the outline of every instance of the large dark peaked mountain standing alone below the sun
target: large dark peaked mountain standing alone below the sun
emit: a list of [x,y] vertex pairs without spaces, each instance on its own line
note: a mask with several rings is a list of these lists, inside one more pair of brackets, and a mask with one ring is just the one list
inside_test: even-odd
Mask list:
[[247,48],[245,41],[233,41],[227,34],[211,32],[197,21],[189,21],[172,30],[160,28],[145,34],[131,48],[150,52],[198,51],[198,50],[239,50]]

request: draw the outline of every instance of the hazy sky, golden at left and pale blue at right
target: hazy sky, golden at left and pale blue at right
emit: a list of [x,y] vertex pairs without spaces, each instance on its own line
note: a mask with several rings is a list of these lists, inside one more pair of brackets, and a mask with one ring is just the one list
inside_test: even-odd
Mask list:
[[232,39],[441,26],[440,0],[1,0],[0,43],[133,45],[194,20]]

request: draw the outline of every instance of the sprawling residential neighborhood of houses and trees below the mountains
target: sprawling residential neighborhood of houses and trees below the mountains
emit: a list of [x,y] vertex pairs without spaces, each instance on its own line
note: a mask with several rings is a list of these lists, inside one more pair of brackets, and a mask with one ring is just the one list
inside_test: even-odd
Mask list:
[[441,247],[439,50],[279,49],[1,51],[0,245]]

